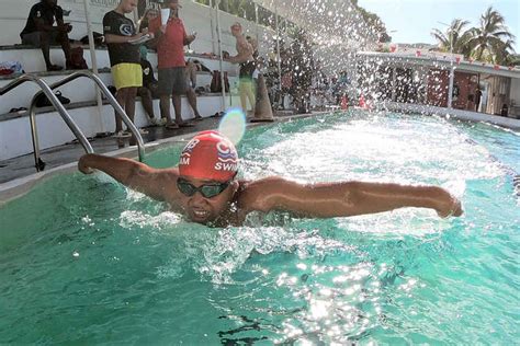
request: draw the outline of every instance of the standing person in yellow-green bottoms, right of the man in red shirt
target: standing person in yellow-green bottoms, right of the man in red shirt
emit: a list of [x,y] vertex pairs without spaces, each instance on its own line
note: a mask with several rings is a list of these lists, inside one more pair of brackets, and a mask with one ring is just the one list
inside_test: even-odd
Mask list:
[[236,48],[237,55],[229,57],[228,60],[233,64],[239,64],[239,82],[238,90],[240,93],[240,105],[244,113],[247,113],[247,100],[251,104],[252,114],[255,114],[255,88],[252,82],[252,74],[257,69],[257,64],[255,61],[255,48],[246,39],[242,34],[242,26],[240,23],[235,23],[231,25],[231,34],[237,39]]

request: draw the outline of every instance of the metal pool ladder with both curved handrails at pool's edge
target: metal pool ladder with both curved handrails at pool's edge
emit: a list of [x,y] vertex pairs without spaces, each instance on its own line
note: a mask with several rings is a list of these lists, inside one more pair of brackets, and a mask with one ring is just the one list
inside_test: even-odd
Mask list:
[[92,146],[90,145],[89,140],[87,137],[84,137],[83,132],[79,129],[78,125],[76,125],[75,120],[70,117],[69,113],[67,109],[64,107],[61,102],[56,97],[56,95],[53,93],[53,90],[59,86],[63,86],[80,77],[86,77],[90,80],[92,80],[100,88],[101,92],[103,95],[106,97],[109,103],[114,107],[115,112],[117,115],[121,117],[121,119],[125,123],[125,125],[128,127],[131,132],[134,135],[134,137],[137,140],[137,151],[139,155],[139,161],[143,161],[145,159],[145,143],[143,141],[143,137],[140,136],[139,131],[135,127],[134,123],[128,118],[126,115],[125,111],[121,105],[117,103],[117,100],[112,95],[112,93],[109,91],[106,85],[103,83],[103,81],[95,76],[94,73],[90,71],[78,71],[75,72],[53,84],[47,84],[42,78],[36,77],[34,74],[23,74],[16,79],[14,79],[12,82],[9,84],[0,88],[0,96],[10,92],[11,90],[20,86],[21,84],[25,82],[34,82],[36,83],[41,91],[38,91],[34,96],[33,100],[31,101],[31,106],[29,108],[29,117],[30,117],[30,123],[31,123],[31,137],[33,140],[33,149],[34,149],[34,163],[36,166],[36,171],[43,171],[45,169],[45,162],[42,161],[39,158],[39,143],[38,143],[38,134],[37,134],[37,128],[36,128],[36,100],[37,97],[43,93],[47,99],[50,101],[52,105],[56,108],[58,114],[61,116],[64,122],[67,124],[67,126],[70,128],[72,134],[76,136],[78,141],[81,143],[83,147],[84,151],[88,153],[93,153],[94,150],[92,149]]

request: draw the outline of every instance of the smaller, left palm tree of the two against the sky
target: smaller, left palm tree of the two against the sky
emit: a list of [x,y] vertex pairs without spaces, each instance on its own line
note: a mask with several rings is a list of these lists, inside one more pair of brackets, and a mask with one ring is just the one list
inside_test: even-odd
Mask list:
[[467,24],[470,24],[468,21],[454,19],[445,33],[438,28],[433,28],[431,35],[439,42],[439,47],[442,51],[470,56],[471,49],[467,43],[471,38],[471,32],[464,30],[464,26]]

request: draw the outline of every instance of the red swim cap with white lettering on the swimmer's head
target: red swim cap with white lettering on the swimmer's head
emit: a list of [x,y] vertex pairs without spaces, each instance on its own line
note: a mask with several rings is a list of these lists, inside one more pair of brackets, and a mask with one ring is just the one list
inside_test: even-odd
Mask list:
[[237,150],[217,131],[199,132],[184,147],[179,161],[180,175],[194,178],[227,182],[237,171]]

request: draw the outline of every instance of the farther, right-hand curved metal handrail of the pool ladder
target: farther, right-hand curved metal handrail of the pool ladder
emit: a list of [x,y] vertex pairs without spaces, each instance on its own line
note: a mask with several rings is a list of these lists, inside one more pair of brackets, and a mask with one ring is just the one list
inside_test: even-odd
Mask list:
[[[81,77],[86,77],[92,81],[94,81],[94,83],[98,84],[98,86],[100,88],[101,92],[104,94],[104,96],[106,97],[106,100],[109,101],[109,103],[112,105],[112,107],[115,109],[115,112],[117,113],[117,115],[121,117],[121,119],[125,123],[126,127],[128,127],[128,129],[131,130],[131,132],[134,135],[134,137],[137,139],[137,151],[138,151],[138,155],[139,155],[139,161],[143,162],[143,160],[145,159],[145,142],[143,141],[143,137],[140,136],[139,134],[139,130],[137,129],[137,127],[134,125],[134,123],[128,118],[128,116],[126,115],[125,111],[123,109],[123,107],[120,105],[120,103],[117,102],[117,100],[115,100],[115,97],[112,95],[112,93],[110,92],[110,90],[106,88],[106,85],[103,83],[103,81],[98,77],[95,76],[94,73],[88,71],[88,70],[84,70],[84,71],[77,71],[77,72],[74,72],[72,74],[69,74],[67,76],[66,78],[55,82],[55,83],[52,83],[49,85],[49,88],[52,90],[54,89],[57,89],[59,86],[63,86],[78,78],[81,78]],[[36,95],[34,96],[33,99],[33,102],[31,103],[31,112],[34,112],[34,101],[35,99],[41,94],[41,92],[37,92]]]

